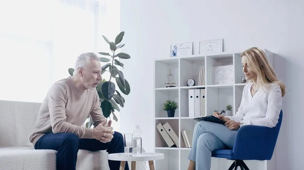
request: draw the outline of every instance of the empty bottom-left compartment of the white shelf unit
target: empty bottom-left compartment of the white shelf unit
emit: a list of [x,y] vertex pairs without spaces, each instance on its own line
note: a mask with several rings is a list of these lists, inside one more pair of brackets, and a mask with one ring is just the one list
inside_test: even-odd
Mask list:
[[155,152],[164,154],[164,159],[155,160],[155,169],[166,169],[166,170],[179,169],[178,150],[155,149]]

